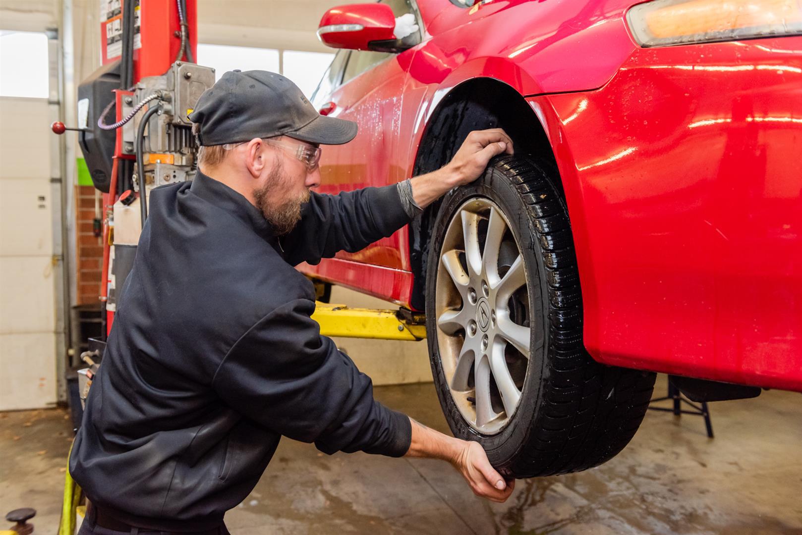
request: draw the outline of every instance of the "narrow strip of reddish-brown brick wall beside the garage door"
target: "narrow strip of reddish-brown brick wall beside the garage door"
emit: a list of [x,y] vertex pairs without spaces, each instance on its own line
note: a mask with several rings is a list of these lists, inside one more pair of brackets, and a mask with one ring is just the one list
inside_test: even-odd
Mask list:
[[102,237],[95,237],[92,222],[95,219],[95,188],[75,186],[78,204],[75,228],[78,231],[77,281],[78,304],[90,305],[99,302],[100,270],[103,266]]

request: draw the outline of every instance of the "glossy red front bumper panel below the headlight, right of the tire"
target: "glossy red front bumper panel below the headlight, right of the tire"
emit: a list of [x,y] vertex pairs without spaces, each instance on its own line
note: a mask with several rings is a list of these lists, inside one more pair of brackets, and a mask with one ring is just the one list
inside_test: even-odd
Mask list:
[[638,50],[529,99],[602,363],[802,390],[802,38]]

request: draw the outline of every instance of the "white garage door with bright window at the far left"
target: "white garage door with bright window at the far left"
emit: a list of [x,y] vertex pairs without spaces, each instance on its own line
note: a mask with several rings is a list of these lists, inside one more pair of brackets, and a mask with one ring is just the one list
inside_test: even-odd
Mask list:
[[[0,410],[56,402],[52,207],[59,199],[51,198],[47,85],[41,93],[47,37],[14,33],[0,35]],[[30,40],[28,48],[12,37]],[[27,74],[6,57],[20,50],[31,51]],[[44,98],[10,96],[19,92]]]

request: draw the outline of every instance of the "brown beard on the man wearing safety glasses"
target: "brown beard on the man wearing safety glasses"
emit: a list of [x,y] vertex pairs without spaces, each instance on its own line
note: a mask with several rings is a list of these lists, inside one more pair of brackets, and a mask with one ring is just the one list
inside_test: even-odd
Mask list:
[[286,192],[292,188],[293,183],[282,172],[281,161],[277,161],[270,170],[265,184],[253,190],[253,199],[256,207],[273,227],[273,233],[284,236],[290,233],[298,221],[301,221],[301,207],[309,201],[309,190],[295,197],[285,198]]

